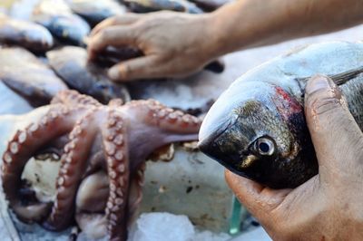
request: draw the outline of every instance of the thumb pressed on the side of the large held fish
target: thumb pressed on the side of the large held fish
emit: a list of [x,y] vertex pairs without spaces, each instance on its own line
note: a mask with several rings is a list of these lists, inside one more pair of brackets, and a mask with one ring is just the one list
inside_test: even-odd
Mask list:
[[363,134],[344,96],[329,77],[317,75],[309,80],[305,112],[320,168],[329,166],[330,170],[341,172],[349,166],[357,167]]

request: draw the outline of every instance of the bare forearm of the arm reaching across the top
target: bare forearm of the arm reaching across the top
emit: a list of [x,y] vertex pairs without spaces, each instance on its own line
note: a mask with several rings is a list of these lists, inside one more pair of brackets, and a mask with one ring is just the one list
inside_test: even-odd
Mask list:
[[363,23],[361,0],[239,0],[209,16],[211,55]]

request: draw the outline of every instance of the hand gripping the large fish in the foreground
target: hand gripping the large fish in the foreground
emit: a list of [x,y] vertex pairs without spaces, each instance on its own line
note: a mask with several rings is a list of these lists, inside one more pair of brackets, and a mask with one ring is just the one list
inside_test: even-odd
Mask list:
[[309,80],[305,112],[319,174],[274,190],[226,170],[237,198],[274,240],[363,240],[363,134],[338,87]]

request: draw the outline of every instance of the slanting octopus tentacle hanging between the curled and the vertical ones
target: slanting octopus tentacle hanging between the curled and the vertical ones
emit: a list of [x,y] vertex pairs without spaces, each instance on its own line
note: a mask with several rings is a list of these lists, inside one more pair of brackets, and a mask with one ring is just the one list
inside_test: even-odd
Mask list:
[[96,134],[93,113],[96,109],[86,112],[83,119],[77,121],[69,134],[61,158],[61,169],[56,181],[56,197],[52,212],[43,226],[51,230],[62,230],[69,225],[74,217],[74,200],[83,173],[87,167],[89,150]]

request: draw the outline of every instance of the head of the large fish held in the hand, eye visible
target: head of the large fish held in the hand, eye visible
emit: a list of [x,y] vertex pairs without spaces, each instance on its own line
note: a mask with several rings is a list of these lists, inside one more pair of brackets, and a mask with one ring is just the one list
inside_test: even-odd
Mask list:
[[270,188],[292,188],[317,172],[303,105],[268,82],[231,86],[199,134],[202,152]]

